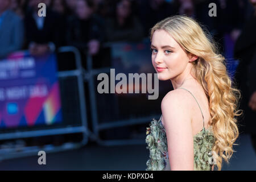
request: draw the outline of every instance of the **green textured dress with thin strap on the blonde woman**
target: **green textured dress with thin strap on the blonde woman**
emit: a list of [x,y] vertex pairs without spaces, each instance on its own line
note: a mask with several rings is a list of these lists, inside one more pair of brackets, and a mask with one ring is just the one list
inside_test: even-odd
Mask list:
[[[197,104],[199,105],[198,102]],[[201,113],[203,115],[202,111]],[[159,121],[154,118],[152,119],[150,127],[147,127],[146,135],[147,149],[150,150],[150,159],[147,160],[146,171],[170,171],[171,167],[168,157],[167,137],[166,130],[162,125],[162,115]],[[203,126],[203,129],[193,137],[195,171],[210,171],[212,169],[212,165],[214,163],[212,155],[212,147],[214,145],[214,141],[215,140],[211,126],[208,129],[205,129]]]

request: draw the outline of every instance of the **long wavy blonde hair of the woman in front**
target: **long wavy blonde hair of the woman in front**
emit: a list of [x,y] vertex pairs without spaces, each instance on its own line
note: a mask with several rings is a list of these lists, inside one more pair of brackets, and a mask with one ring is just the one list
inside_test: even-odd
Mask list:
[[235,88],[226,71],[225,57],[206,28],[196,20],[185,15],[175,15],[156,23],[151,28],[150,40],[156,30],[168,32],[172,38],[187,52],[198,56],[193,61],[196,80],[203,86],[209,101],[209,112],[212,122],[215,143],[213,157],[218,170],[221,170],[222,159],[229,163],[233,155],[233,145],[238,138],[237,110],[241,97],[240,90]]

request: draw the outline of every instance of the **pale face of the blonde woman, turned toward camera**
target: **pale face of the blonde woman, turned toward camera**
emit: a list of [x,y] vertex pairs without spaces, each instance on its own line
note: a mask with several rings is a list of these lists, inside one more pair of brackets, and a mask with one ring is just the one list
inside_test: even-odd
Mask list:
[[166,31],[154,32],[151,49],[152,64],[158,73],[159,80],[176,80],[185,71],[189,57]]

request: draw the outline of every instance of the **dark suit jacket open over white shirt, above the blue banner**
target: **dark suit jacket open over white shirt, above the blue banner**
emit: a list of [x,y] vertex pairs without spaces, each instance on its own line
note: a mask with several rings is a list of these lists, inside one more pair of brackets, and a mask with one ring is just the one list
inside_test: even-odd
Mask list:
[[61,38],[61,21],[60,16],[53,12],[51,9],[47,9],[46,17],[42,30],[36,26],[36,21],[33,17],[33,11],[28,9],[24,17],[26,28],[26,48],[28,48],[31,42],[38,44],[54,43],[55,48],[61,46],[61,42],[64,38]]

